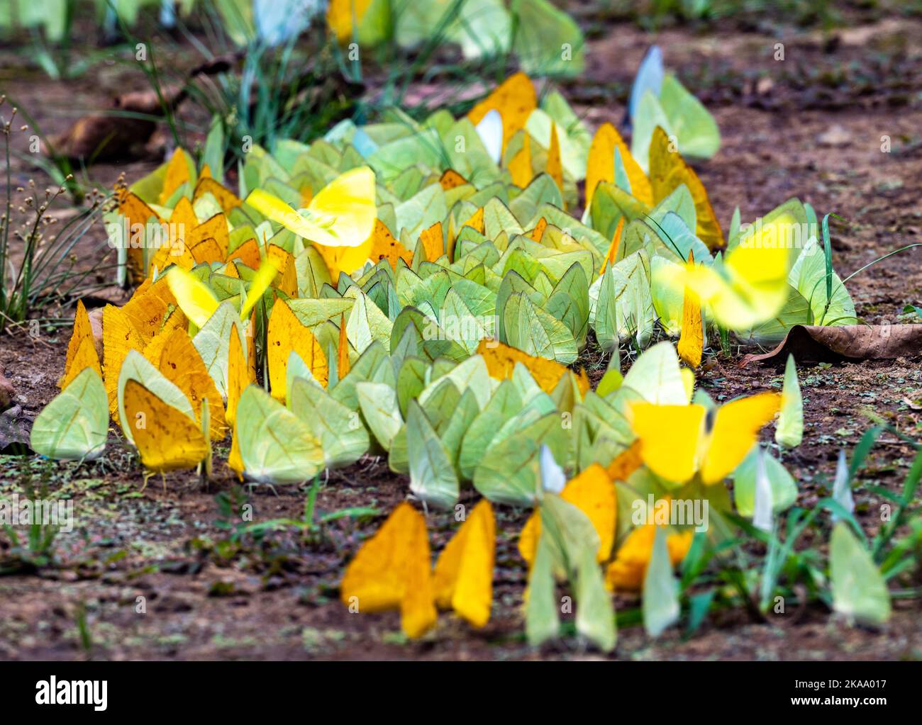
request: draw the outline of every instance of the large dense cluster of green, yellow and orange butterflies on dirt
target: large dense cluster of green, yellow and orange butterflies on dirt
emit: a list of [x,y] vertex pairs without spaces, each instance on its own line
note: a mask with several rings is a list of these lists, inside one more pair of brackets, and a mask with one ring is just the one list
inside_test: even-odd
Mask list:
[[[797,497],[757,445],[779,410],[777,441],[799,443],[793,361],[780,395],[718,406],[695,387],[708,326],[767,338],[795,313],[831,307],[822,254],[771,243],[815,221],[797,200],[751,230],[738,212],[727,251],[712,256],[723,233],[674,146],[706,156],[716,145],[682,115],[695,113],[678,81],[657,79],[656,55],[630,109],[635,134],[644,109],[662,116],[643,149],[611,124],[589,134],[559,93],[538,103],[523,74],[461,119],[436,111],[417,123],[395,110],[310,146],[254,146],[239,193],[219,159],[199,168],[178,149],[119,190],[112,233],[144,242],[119,245],[136,291],[102,310],[101,345],[78,305],[62,392],[37,417],[32,449],[98,457],[111,416],[148,474],[208,475],[212,443],[230,434],[228,465],[255,482],[302,482],[373,452],[433,507],[455,507],[469,483],[486,500],[434,579],[424,520],[401,506],[349,567],[343,601],[399,608],[412,636],[436,607],[481,626],[491,504],[530,506],[529,638],[556,632],[554,582],[569,579],[577,628],[609,649],[606,587],[665,596],[645,582],[671,577],[691,541],[635,526],[636,501],[706,497],[718,517],[735,505],[771,518]],[[566,209],[580,181],[576,219]],[[651,345],[623,376],[613,355],[595,391],[566,367],[589,330],[609,350],[645,347],[657,322],[679,335],[678,352]],[[734,501],[718,485],[729,476]]]

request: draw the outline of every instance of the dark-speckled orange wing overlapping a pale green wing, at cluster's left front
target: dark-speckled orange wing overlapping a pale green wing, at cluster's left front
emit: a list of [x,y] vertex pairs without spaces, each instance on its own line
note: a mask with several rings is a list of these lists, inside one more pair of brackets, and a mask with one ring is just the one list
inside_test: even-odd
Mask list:
[[198,424],[160,400],[137,380],[124,386],[124,412],[133,426],[137,452],[154,473],[192,468],[208,453],[208,441]]

